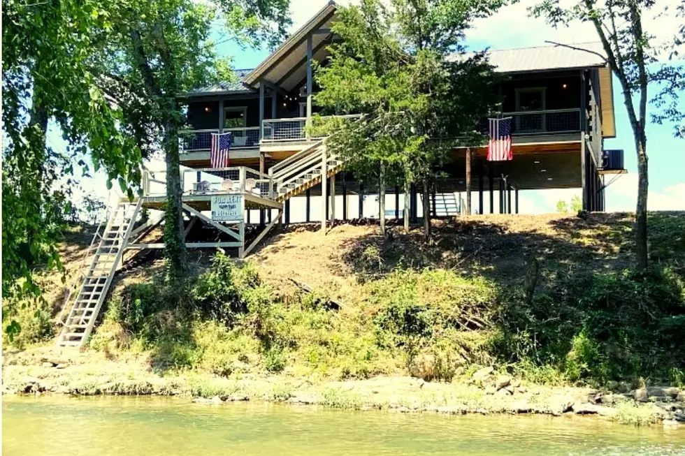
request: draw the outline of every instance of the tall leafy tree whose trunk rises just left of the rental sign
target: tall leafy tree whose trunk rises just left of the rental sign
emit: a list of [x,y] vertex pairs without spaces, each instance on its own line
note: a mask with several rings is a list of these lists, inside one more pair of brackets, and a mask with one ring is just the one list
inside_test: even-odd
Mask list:
[[[225,79],[225,61],[216,59],[210,34],[223,24],[227,39],[275,43],[284,32],[287,1],[122,0],[114,39],[100,67],[103,81],[120,101],[124,123],[145,150],[161,149],[166,161],[164,256],[167,281],[187,272],[183,240],[178,130],[185,123],[179,95],[210,80]],[[159,138],[150,144],[149,138]]]

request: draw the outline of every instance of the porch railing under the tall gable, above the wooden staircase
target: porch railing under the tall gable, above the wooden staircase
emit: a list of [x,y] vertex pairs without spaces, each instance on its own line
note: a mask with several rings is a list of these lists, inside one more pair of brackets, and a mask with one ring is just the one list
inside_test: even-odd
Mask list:
[[291,119],[264,119],[262,125],[262,142],[287,142],[303,140],[319,140],[329,133],[323,128],[332,119],[359,119],[361,115],[314,116],[312,124],[307,128],[307,117],[292,117]]

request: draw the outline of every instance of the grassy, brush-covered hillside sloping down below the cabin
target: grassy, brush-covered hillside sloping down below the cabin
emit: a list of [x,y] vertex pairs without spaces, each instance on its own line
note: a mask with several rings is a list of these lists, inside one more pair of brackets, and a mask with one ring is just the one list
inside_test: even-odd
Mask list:
[[[630,269],[628,214],[434,226],[428,244],[419,230],[291,226],[245,263],[196,253],[196,275],[173,290],[159,256],[135,258],[90,348],[229,377],[450,381],[493,365],[535,383],[684,382],[685,214],[651,214],[645,274]],[[15,344],[49,339],[58,308],[21,311]]]

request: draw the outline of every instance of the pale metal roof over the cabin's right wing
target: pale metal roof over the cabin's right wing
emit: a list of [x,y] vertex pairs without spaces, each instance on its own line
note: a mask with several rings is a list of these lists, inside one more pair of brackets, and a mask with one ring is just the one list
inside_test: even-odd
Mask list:
[[565,47],[545,45],[518,49],[489,50],[490,63],[498,73],[594,68],[606,65],[602,43],[582,43]]

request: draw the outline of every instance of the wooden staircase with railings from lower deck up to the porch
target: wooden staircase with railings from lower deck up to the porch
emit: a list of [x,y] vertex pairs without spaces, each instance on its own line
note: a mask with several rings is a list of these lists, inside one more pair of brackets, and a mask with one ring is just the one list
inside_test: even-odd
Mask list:
[[329,153],[324,140],[317,141],[269,170],[275,193],[273,198],[282,203],[297,196],[320,184],[322,175],[335,175],[344,164],[338,156]]

